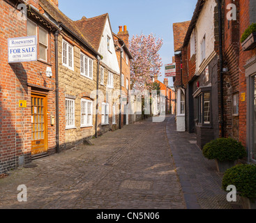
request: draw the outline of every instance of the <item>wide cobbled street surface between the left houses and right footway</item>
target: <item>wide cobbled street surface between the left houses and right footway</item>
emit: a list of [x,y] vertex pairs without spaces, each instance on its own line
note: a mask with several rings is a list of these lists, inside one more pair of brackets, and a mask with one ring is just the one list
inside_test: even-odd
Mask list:
[[[166,123],[140,121],[10,171],[0,179],[0,208],[186,208]],[[27,202],[17,201],[18,185]]]

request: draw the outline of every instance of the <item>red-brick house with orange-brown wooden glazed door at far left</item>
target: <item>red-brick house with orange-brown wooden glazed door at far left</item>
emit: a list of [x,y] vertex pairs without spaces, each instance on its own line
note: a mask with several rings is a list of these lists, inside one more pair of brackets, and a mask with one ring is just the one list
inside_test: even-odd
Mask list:
[[[27,17],[17,9],[20,3]],[[37,0],[0,1],[0,174],[38,153],[56,151],[54,35],[59,28],[39,10]],[[26,36],[37,37],[37,60],[8,63],[8,38]]]

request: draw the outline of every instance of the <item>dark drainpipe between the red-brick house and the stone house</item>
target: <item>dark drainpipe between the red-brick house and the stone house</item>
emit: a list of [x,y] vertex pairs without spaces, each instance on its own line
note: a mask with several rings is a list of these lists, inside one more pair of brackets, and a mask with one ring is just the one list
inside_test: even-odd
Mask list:
[[56,75],[56,148],[59,153],[59,60],[58,60],[58,37],[60,30],[54,33],[55,43],[55,75]]

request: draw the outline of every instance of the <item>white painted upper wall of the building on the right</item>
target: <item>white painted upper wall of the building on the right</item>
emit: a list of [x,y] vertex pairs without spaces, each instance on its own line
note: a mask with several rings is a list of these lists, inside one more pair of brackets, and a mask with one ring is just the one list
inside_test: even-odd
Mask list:
[[206,59],[212,54],[214,51],[214,8],[217,3],[215,0],[206,0],[204,3],[204,7],[198,17],[197,24],[195,25],[195,33],[196,33],[196,56],[197,56],[197,64],[196,64],[196,72],[199,70],[199,66],[201,64],[201,42],[206,36],[206,50],[205,57]]

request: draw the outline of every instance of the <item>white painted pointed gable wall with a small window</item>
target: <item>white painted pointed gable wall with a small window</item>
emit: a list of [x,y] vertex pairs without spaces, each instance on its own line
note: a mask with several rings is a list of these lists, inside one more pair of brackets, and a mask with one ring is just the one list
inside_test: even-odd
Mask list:
[[[110,51],[107,49],[107,36],[111,38],[110,40]],[[105,29],[103,31],[103,36],[101,37],[100,47],[98,52],[103,56],[103,63],[105,63],[109,68],[120,73],[119,63],[116,57],[116,52],[114,49],[114,40],[112,36],[112,31],[110,29],[110,22],[107,20],[105,24]]]

